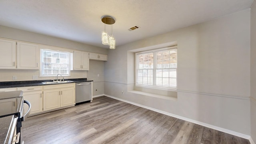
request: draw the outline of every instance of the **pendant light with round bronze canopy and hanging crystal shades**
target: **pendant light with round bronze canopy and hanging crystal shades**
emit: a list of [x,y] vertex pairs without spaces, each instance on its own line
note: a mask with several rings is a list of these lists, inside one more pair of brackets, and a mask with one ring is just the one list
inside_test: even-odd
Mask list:
[[[103,16],[101,21],[104,23],[104,32],[102,32],[102,44],[109,45],[110,49],[116,48],[116,40],[113,36],[113,27],[112,24],[114,24],[116,21],[111,16]],[[108,33],[106,32],[106,24],[111,24],[111,36],[108,36]]]

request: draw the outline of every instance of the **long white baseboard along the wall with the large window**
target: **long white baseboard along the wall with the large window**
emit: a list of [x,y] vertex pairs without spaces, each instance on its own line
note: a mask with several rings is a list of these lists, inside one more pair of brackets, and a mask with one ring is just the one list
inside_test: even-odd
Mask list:
[[192,120],[192,119],[190,119],[190,118],[186,118],[186,117],[183,117],[183,116],[178,116],[178,115],[176,115],[176,114],[171,114],[171,113],[169,113],[169,112],[164,112],[164,111],[162,111],[162,110],[158,110],[158,109],[155,109],[155,108],[151,108],[151,107],[148,107],[148,106],[144,106],[144,105],[141,105],[141,104],[137,104],[137,103],[134,103],[134,102],[130,102],[130,101],[127,101],[127,100],[123,100],[123,99],[121,99],[121,98],[116,98],[116,97],[114,97],[114,96],[109,96],[109,95],[107,95],[107,94],[103,94],[103,95],[104,95],[104,96],[108,96],[108,97],[110,97],[110,98],[114,98],[114,99],[116,99],[116,100],[120,100],[120,101],[123,101],[123,102],[127,102],[127,103],[129,103],[129,104],[133,104],[133,105],[135,105],[135,106],[140,106],[140,107],[146,108],[146,109],[148,109],[148,110],[153,110],[153,111],[155,111],[155,112],[159,112],[159,113],[165,114],[165,115],[167,115],[167,116],[172,116],[172,117],[174,117],[174,118],[178,118],[178,119],[181,119],[181,120],[186,120],[186,121],[188,121],[188,122],[192,122],[192,123],[194,123],[194,124],[199,124],[199,125],[205,126],[205,127],[207,127],[207,128],[212,128],[212,129],[214,129],[214,130],[218,130],[218,131],[221,131],[221,132],[225,132],[225,133],[227,133],[227,134],[232,134],[232,135],[234,135],[234,136],[238,136],[238,137],[241,137],[241,138],[245,138],[245,139],[249,140],[251,144],[255,144],[254,141],[252,140],[252,137],[249,136],[249,135],[246,135],[246,134],[242,134],[242,133],[239,133],[239,132],[234,132],[234,131],[232,131],[232,130],[228,130],[228,129],[225,129],[225,128],[220,128],[220,127],[218,127],[218,126],[213,126],[213,125],[211,125],[211,124],[206,124],[206,123],[204,123],[204,122],[199,122],[199,121],[196,121],[196,120]]

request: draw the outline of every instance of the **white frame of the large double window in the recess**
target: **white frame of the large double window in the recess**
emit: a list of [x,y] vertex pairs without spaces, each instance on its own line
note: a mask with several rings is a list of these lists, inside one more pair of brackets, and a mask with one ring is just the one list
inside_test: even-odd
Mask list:
[[[135,86],[139,86],[139,87],[144,87],[144,88],[154,88],[154,89],[159,89],[159,90],[177,90],[177,67],[176,68],[171,68],[171,69],[176,69],[176,87],[172,87],[172,86],[157,86],[156,85],[156,70],[157,70],[157,56],[156,53],[160,52],[160,51],[164,51],[164,50],[171,50],[171,49],[176,49],[177,52],[177,57],[178,57],[178,48],[177,46],[172,46],[172,47],[166,47],[166,48],[159,48],[159,49],[155,49],[155,50],[148,50],[148,51],[143,51],[143,52],[137,52],[135,53],[135,59],[136,59],[136,72],[135,72]],[[138,62],[138,55],[139,54],[146,54],[146,53],[150,53],[153,52],[154,53],[154,65],[153,65],[153,84],[152,85],[148,85],[148,84],[139,84],[138,83],[138,70],[139,70],[139,62]],[[178,62],[177,62],[178,65]]]

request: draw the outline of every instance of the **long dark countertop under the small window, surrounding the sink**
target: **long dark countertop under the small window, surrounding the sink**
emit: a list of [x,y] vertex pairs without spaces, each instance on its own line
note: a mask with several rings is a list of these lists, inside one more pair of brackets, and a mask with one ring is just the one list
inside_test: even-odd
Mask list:
[[[87,80],[87,78],[73,78],[73,79],[64,79],[64,80],[71,80],[73,82],[93,82],[93,80]],[[50,82],[50,81],[52,81],[52,80],[0,82],[0,88],[16,88],[16,87],[25,87],[25,86],[45,86],[45,85],[51,85],[51,84],[43,84],[42,82]],[[73,83],[73,82],[69,82],[69,83]],[[59,83],[59,84],[63,84],[63,83]]]

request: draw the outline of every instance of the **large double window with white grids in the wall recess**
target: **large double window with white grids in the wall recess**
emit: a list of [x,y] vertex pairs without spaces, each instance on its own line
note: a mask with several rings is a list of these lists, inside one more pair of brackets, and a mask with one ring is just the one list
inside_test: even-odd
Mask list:
[[177,88],[177,48],[136,53],[136,86]]

